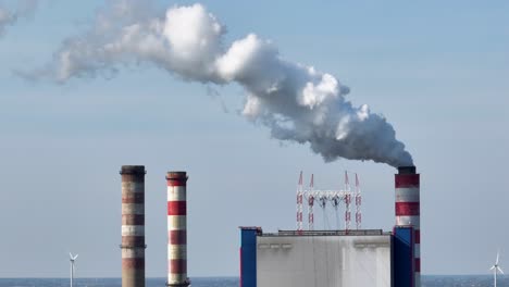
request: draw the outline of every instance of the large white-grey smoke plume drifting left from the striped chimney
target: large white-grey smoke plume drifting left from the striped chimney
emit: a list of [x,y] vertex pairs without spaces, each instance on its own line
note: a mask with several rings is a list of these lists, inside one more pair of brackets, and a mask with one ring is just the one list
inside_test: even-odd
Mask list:
[[333,75],[283,59],[273,42],[254,34],[226,47],[225,32],[201,4],[158,15],[147,1],[115,1],[88,33],[66,39],[48,66],[24,75],[64,83],[149,63],[186,80],[238,83],[247,93],[243,114],[276,139],[309,144],[327,162],[412,164],[385,117],[365,104],[353,107],[345,98],[348,87]]

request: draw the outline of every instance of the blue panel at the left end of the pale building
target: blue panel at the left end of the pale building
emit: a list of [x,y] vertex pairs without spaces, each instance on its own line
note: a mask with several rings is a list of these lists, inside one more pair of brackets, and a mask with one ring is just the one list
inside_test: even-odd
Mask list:
[[259,227],[240,227],[240,287],[257,287],[257,235]]

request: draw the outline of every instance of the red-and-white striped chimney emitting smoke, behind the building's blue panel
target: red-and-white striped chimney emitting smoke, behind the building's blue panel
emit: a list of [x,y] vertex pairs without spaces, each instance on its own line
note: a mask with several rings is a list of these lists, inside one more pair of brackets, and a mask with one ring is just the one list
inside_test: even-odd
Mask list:
[[395,175],[396,226],[413,227],[414,287],[421,287],[420,175],[415,166],[400,166]]

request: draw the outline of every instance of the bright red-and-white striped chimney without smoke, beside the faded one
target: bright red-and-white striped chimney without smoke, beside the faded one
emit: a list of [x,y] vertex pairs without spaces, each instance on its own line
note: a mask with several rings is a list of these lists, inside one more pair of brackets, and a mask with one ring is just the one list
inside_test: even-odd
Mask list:
[[187,200],[186,172],[169,172],[167,184],[167,283],[187,287]]

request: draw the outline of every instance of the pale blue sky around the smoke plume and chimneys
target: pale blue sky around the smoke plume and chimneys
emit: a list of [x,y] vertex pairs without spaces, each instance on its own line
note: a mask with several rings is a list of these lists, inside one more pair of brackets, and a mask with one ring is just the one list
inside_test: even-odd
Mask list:
[[[424,274],[487,273],[497,248],[509,265],[509,3],[337,2],[201,3],[227,26],[228,43],[248,33],[272,39],[394,125],[421,173]],[[150,66],[65,85],[13,75],[48,62],[101,4],[41,2],[0,37],[0,276],[67,276],[69,251],[79,253],[78,276],[120,276],[122,164],[148,171],[148,276],[166,274],[169,170],[190,176],[190,276],[238,274],[240,225],[294,228],[300,170],[327,188],[358,172],[363,226],[392,229],[393,167],[324,163],[270,139],[237,115],[239,86],[213,87],[212,98]]]

